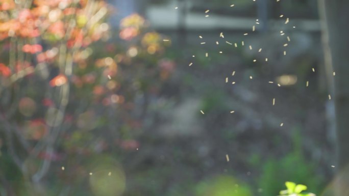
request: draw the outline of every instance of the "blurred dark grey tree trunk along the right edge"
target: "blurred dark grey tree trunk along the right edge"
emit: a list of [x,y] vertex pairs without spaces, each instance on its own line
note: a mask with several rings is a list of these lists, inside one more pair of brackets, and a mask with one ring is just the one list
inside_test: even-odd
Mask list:
[[[320,13],[325,22],[325,61],[328,71],[330,90],[334,93],[336,114],[336,148],[337,148],[337,181],[336,194],[349,195],[349,1],[318,0]],[[328,41],[328,44],[326,42]],[[328,47],[327,47],[328,46]],[[329,70],[332,67],[333,70]],[[333,85],[331,84],[333,81]]]

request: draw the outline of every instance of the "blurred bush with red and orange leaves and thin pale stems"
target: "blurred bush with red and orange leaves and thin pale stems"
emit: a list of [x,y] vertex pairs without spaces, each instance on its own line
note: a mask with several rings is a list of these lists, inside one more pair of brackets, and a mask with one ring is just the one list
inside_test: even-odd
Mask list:
[[[175,64],[164,58],[170,41],[144,18],[124,18],[121,41],[108,12],[104,1],[0,2],[0,187],[8,194],[124,190],[116,154],[140,147],[148,107]],[[91,166],[102,154],[115,159]]]

